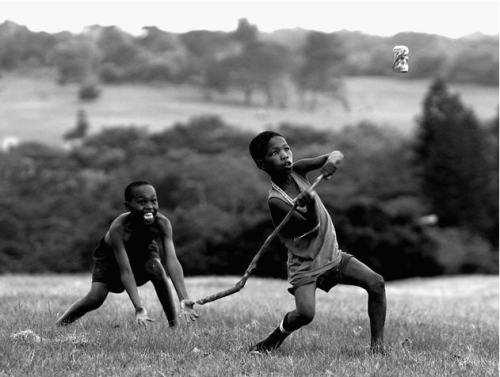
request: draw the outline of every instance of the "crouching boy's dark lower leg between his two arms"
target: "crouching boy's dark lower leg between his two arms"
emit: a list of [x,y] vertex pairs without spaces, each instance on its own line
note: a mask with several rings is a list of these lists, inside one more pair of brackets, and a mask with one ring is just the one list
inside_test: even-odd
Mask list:
[[160,300],[161,306],[167,316],[168,324],[172,327],[177,324],[177,311],[175,309],[174,296],[168,283],[167,274],[159,259],[150,259],[144,265],[153,286],[156,295]]

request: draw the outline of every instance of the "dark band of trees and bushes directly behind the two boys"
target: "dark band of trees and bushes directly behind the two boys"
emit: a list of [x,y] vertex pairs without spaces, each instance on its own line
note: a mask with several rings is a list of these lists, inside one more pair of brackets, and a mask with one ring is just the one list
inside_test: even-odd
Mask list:
[[[137,179],[156,187],[187,275],[245,271],[273,229],[270,183],[248,153],[254,133],[217,116],[155,133],[87,130],[79,113],[65,134],[71,148],[25,142],[1,152],[1,273],[88,272],[93,248],[125,211],[125,186]],[[498,114],[480,123],[438,79],[411,137],[369,122],[276,130],[295,159],[344,152],[318,193],[341,248],[387,280],[498,273]],[[255,274],[283,278],[285,260],[273,242]]]

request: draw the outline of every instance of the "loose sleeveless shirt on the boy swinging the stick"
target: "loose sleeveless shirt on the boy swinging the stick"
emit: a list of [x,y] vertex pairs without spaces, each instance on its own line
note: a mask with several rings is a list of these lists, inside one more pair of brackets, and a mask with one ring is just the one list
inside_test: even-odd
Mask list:
[[[301,192],[311,187],[311,184],[297,173],[292,172],[291,176]],[[271,198],[278,198],[293,206],[293,199],[274,183],[269,190],[268,203]],[[319,224],[313,229],[294,238],[287,238],[278,233],[288,250],[288,281],[292,285],[302,279],[315,281],[319,275],[337,266],[341,260],[335,227],[318,195],[315,198],[315,207]]]

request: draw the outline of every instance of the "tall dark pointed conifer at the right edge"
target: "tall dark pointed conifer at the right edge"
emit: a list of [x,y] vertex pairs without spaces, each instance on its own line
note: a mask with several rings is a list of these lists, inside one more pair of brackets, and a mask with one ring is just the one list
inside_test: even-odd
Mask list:
[[415,164],[439,225],[486,234],[493,170],[479,121],[437,79],[424,98],[418,125]]

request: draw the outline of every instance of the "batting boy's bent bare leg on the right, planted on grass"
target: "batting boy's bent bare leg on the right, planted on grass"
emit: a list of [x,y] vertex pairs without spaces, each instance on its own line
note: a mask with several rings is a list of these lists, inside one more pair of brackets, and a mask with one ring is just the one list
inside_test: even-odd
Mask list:
[[371,329],[370,348],[375,353],[383,352],[387,311],[384,278],[356,258],[351,258],[340,282],[361,287],[368,292],[368,316]]

